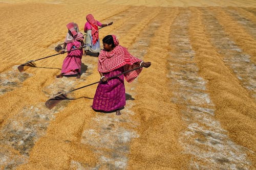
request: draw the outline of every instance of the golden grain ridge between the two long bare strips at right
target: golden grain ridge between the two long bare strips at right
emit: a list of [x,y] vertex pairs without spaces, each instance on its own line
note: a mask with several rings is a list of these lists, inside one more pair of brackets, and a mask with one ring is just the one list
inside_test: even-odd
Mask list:
[[[228,130],[230,138],[255,151],[252,142],[255,140],[255,102],[233,71],[224,64],[222,61],[224,57],[217,53],[218,49],[212,45],[214,42],[210,42],[210,35],[204,29],[205,24],[201,15],[199,17],[201,22],[198,23],[201,27],[197,27],[198,32],[191,29],[193,36],[190,37],[194,40],[192,41],[194,48],[198,49],[196,59],[200,74],[209,80],[207,86],[217,108],[216,117]],[[199,32],[204,34],[196,36]],[[205,44],[204,47],[201,44]],[[255,161],[253,152],[247,153]]]

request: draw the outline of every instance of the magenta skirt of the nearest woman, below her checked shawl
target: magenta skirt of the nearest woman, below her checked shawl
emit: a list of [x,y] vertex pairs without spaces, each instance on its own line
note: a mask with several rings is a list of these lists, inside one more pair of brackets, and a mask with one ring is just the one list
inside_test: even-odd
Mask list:
[[[120,67],[111,72],[105,73],[106,78],[113,77],[123,72]],[[108,82],[100,82],[96,89],[92,108],[96,111],[111,112],[122,108],[125,105],[124,76],[111,79]]]

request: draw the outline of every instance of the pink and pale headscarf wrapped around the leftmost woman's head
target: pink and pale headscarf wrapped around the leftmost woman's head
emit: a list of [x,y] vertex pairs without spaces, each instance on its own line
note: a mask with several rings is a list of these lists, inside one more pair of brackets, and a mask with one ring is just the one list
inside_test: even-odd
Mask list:
[[73,36],[67,33],[66,40],[65,40],[66,43],[74,42],[76,40],[83,40],[83,35],[82,33],[79,32],[77,23],[70,22],[68,23],[67,28],[69,29],[69,31]]

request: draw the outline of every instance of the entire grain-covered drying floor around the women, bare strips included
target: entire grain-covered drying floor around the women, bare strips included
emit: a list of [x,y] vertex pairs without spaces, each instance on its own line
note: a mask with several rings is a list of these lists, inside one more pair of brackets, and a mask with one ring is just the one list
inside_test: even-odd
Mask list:
[[[254,169],[255,1],[1,1],[0,169]],[[49,110],[58,91],[97,82],[56,79],[69,22],[86,15],[136,57],[151,61],[125,84],[121,116],[91,109],[96,85]],[[100,41],[101,42],[101,41]]]

